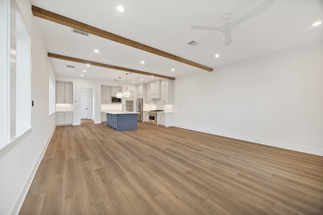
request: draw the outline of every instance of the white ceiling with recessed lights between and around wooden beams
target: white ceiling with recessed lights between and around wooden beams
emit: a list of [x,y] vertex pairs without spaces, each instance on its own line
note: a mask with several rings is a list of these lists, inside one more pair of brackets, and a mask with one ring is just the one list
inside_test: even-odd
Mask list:
[[[31,0],[32,5],[96,28],[143,43],[179,57],[215,68],[295,47],[323,41],[322,0],[276,0],[264,13],[238,25],[232,31],[232,44],[224,46],[224,35],[202,31],[192,25],[220,27],[222,16],[231,13],[235,22],[264,0]],[[116,10],[122,5],[123,13]],[[157,56],[95,35],[72,33],[71,28],[35,17],[47,51],[105,64],[146,71],[170,77],[208,71]],[[190,46],[187,43],[197,41]],[[93,50],[98,49],[99,53]],[[214,57],[220,54],[220,57]],[[141,64],[140,61],[145,61]],[[87,67],[82,63],[51,58],[57,75],[125,82],[126,72]],[[76,68],[67,68],[66,64]],[[175,71],[171,71],[174,68]],[[87,72],[83,73],[86,69]],[[150,82],[155,78],[131,74],[128,83]]]

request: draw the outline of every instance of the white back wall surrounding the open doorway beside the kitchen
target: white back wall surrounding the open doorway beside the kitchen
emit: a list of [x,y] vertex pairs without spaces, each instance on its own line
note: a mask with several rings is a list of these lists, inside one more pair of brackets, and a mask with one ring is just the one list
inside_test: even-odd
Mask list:
[[[73,82],[73,125],[81,124],[81,103],[80,103],[81,88],[93,89],[94,99],[95,99],[94,123],[101,123],[101,85],[119,87],[119,82],[116,83],[114,81],[89,80],[89,79],[80,79],[80,78],[73,78],[73,77],[67,77],[67,76],[57,76],[56,80]],[[126,86],[122,86],[122,88],[126,89]],[[135,85],[128,84],[128,89],[130,91],[136,91],[137,87]],[[126,100],[122,99],[122,105],[125,105],[125,104],[126,104]]]

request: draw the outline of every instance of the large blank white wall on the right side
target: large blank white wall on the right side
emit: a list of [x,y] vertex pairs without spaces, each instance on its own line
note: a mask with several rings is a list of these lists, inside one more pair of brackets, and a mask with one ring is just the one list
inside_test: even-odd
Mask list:
[[318,43],[178,77],[175,124],[323,156],[322,59]]

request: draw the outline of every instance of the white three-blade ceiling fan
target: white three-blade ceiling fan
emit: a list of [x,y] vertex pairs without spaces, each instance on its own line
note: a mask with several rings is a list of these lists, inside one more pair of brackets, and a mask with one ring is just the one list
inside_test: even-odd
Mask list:
[[212,31],[220,31],[224,34],[224,46],[228,46],[231,44],[231,31],[240,23],[249,20],[255,16],[258,16],[259,14],[265,12],[268,10],[272,5],[274,4],[275,0],[267,0],[264,3],[258,5],[251,11],[249,11],[247,14],[242,16],[240,19],[238,19],[234,23],[230,23],[229,20],[232,17],[232,14],[227,13],[223,16],[223,20],[226,21],[226,23],[222,27],[205,27],[205,26],[191,26],[191,28],[196,30],[212,30]]

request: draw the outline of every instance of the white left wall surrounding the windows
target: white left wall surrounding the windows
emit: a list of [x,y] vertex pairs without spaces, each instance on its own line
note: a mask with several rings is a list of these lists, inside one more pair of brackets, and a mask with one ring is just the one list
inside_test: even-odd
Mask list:
[[[14,0],[12,0],[14,1]],[[55,114],[48,116],[48,73],[55,79],[41,32],[34,22],[29,1],[17,0],[20,16],[32,44],[31,125],[33,128],[0,151],[0,214],[17,214],[56,126]],[[14,10],[11,13],[16,13]],[[14,14],[16,16],[16,14]],[[15,28],[15,23],[10,24]],[[11,35],[10,39],[15,40]]]

